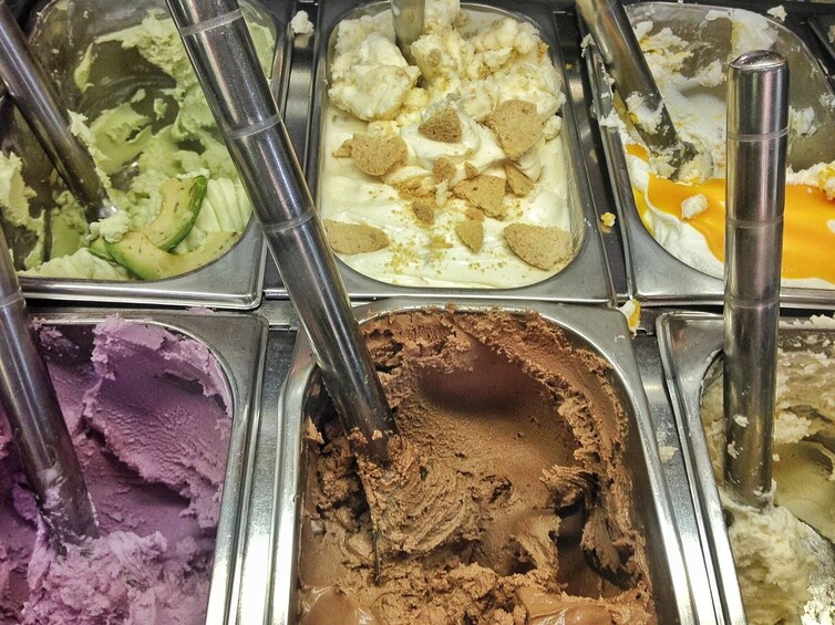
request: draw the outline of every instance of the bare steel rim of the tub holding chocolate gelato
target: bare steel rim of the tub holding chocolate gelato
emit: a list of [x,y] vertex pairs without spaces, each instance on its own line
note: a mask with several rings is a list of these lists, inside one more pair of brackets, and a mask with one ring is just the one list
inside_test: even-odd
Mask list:
[[[389,300],[355,310],[361,323],[391,312],[440,305],[433,299]],[[569,340],[588,348],[612,364],[610,379],[629,413],[630,436],[626,441],[628,465],[632,470],[635,487],[633,513],[647,535],[649,569],[659,608],[659,623],[695,623],[695,602],[691,585],[690,558],[684,561],[678,527],[670,507],[670,494],[662,475],[661,459],[657,448],[647,398],[636,366],[635,353],[629,341],[625,317],[617,311],[602,308],[557,306],[547,303],[491,300],[483,303],[456,303],[462,311],[486,311],[502,306],[512,312],[534,310],[558,324]],[[277,563],[269,597],[269,622],[285,624],[295,622],[291,606],[296,588],[296,562],[298,558],[299,509],[302,498],[303,441],[301,421],[310,403],[310,384],[317,374],[312,353],[302,338],[297,345],[290,373],[282,389],[279,407],[279,468],[276,476],[277,518],[274,535],[272,559]],[[690,554],[688,554],[690,555]],[[280,563],[280,564],[278,564]],[[695,562],[702,564],[701,553]],[[262,596],[250,595],[255,603]],[[700,606],[700,612],[712,606]],[[260,622],[260,621],[258,621]],[[710,621],[704,621],[710,622]]]

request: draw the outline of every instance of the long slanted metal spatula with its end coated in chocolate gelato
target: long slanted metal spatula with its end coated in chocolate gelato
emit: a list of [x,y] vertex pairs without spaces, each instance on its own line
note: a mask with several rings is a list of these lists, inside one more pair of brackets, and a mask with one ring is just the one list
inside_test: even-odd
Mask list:
[[[375,534],[412,535],[416,528],[433,542],[445,540],[457,530],[455,520],[474,513],[474,502],[460,497],[443,469],[422,475],[423,463],[398,435],[237,0],[167,3],[353,444]],[[423,500],[433,502],[432,519],[410,514],[410,501]],[[384,551],[390,543],[400,551],[437,544],[401,545],[377,535],[374,543]]]

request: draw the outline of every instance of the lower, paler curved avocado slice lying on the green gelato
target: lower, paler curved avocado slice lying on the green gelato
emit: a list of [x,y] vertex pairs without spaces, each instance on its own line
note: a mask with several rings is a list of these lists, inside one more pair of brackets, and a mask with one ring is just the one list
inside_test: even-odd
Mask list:
[[238,232],[208,232],[196,250],[174,254],[157,248],[147,235],[126,232],[121,241],[105,241],[111,257],[142,280],[163,280],[193,271],[207,264],[228,250]]

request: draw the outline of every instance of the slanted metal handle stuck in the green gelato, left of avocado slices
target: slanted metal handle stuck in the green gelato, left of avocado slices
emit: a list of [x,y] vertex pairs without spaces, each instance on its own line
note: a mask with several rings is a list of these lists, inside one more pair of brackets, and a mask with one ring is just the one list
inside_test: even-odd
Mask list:
[[87,219],[99,219],[112,202],[93,157],[70,132],[70,118],[55,87],[4,0],[0,0],[0,79],[70,192],[87,209]]

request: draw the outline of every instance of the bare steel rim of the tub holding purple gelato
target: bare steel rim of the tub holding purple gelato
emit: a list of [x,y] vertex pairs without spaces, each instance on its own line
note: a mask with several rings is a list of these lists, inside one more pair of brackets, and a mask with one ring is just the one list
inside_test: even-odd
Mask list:
[[204,344],[216,358],[231,399],[231,433],[218,515],[215,558],[209,588],[207,624],[227,621],[240,574],[237,558],[239,537],[248,521],[249,476],[252,447],[259,427],[259,400],[267,341],[267,322],[252,315],[229,313],[194,314],[179,311],[115,311],[66,309],[33,311],[43,325],[55,326],[79,345],[92,345],[93,326],[110,314],[154,326]]

